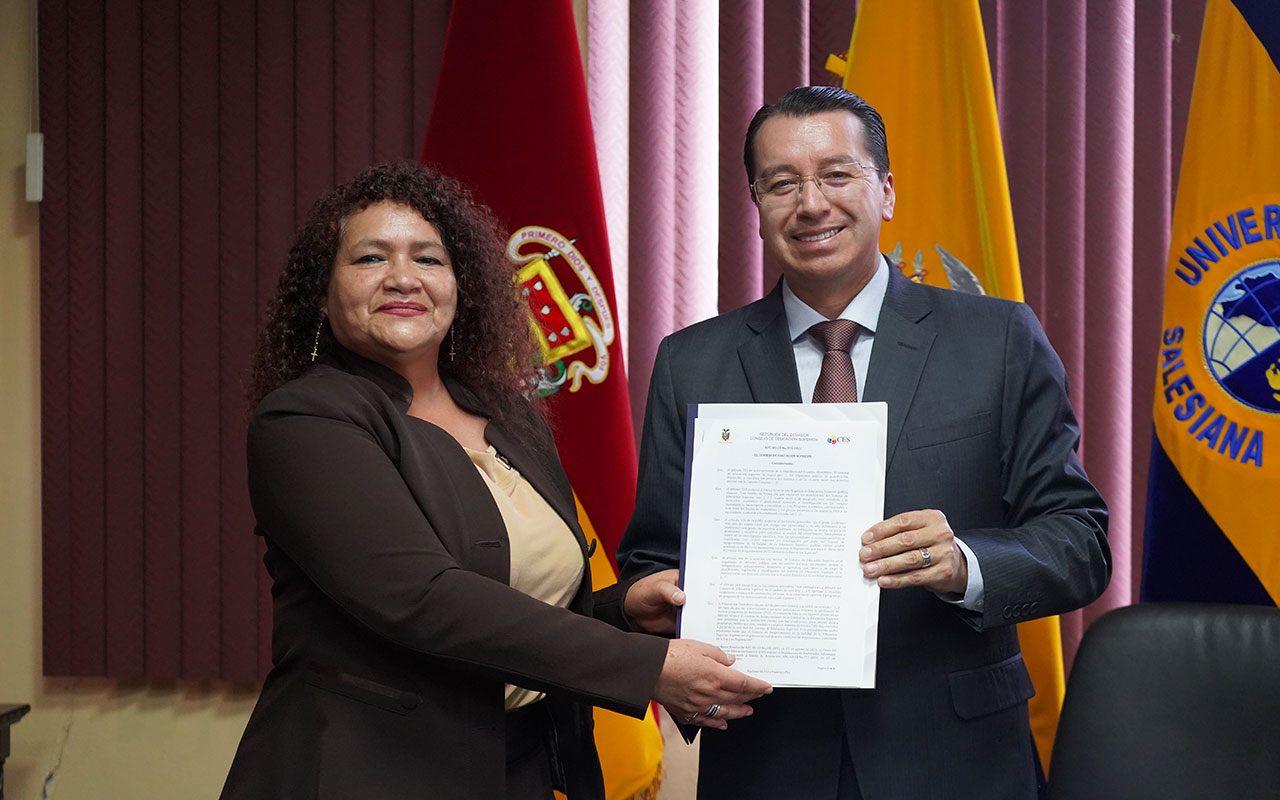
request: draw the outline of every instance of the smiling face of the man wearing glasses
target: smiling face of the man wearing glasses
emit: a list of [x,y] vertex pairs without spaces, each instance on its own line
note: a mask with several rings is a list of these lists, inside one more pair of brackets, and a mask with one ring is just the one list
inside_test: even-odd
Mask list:
[[[849,111],[771,116],[755,141],[755,179],[790,173],[808,178],[837,164],[874,164],[863,124]],[[818,311],[840,308],[879,266],[881,223],[893,218],[893,175],[868,170],[852,184],[824,195],[806,179],[786,202],[762,198],[760,238],[782,265],[787,285]]]

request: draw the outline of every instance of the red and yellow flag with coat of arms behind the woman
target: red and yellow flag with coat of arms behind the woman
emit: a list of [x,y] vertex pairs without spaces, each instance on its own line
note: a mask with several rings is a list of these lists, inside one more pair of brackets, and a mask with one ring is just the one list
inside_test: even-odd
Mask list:
[[[596,589],[612,584],[636,448],[570,0],[453,1],[422,161],[472,187],[511,234],[561,461],[582,530],[599,541],[591,575]],[[611,800],[657,796],[652,710],[632,719],[596,709],[595,742]]]

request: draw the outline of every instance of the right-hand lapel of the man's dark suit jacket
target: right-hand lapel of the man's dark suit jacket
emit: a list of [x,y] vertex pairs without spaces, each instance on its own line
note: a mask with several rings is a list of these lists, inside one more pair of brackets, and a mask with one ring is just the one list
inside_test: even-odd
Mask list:
[[888,403],[886,468],[893,463],[906,413],[915,399],[920,374],[937,337],[927,325],[920,324],[931,310],[927,291],[891,268],[863,392],[867,402]]

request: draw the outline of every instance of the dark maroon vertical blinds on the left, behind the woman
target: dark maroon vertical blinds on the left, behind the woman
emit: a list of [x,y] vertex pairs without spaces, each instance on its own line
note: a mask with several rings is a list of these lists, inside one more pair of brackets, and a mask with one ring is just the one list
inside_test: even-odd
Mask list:
[[448,0],[45,0],[44,672],[250,680],[243,376],[293,229],[415,157]]

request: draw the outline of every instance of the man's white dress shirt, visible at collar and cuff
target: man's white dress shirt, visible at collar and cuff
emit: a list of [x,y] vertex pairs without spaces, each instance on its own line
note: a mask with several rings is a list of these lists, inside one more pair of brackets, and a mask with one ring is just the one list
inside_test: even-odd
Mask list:
[[[876,325],[879,323],[881,306],[884,305],[884,292],[888,289],[888,261],[881,259],[879,269],[867,282],[863,291],[845,306],[837,319],[852,320],[858,323],[858,335],[849,356],[854,362],[854,375],[858,378],[858,399],[863,398],[863,387],[867,385],[867,370],[872,361],[872,346],[876,340]],[[787,330],[791,334],[791,349],[796,360],[796,376],[800,379],[800,397],[804,402],[813,401],[813,388],[818,384],[818,374],[822,372],[823,347],[809,334],[809,329],[822,321],[826,316],[810,308],[803,300],[795,296],[786,280],[782,282],[782,308],[787,314]],[[943,509],[945,513],[945,509]],[[978,566],[978,557],[969,549],[959,536],[956,545],[968,561],[969,582],[964,595],[940,594],[938,596],[948,603],[957,603],[963,608],[980,612],[983,607],[982,568]]]

